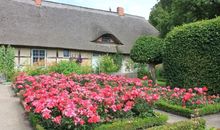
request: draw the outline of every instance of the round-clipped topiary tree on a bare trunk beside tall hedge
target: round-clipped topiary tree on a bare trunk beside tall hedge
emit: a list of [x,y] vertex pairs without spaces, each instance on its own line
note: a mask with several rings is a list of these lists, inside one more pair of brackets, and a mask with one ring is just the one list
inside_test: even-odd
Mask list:
[[130,57],[134,62],[149,64],[149,70],[156,83],[155,66],[162,63],[163,40],[152,36],[142,36],[131,49]]

